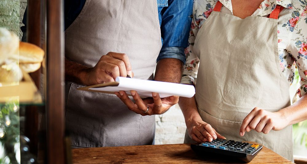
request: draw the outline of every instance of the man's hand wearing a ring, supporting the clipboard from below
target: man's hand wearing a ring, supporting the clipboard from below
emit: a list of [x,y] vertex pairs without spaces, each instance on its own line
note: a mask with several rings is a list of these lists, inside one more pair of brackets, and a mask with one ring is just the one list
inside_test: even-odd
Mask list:
[[[171,106],[179,101],[179,96],[169,96],[160,98],[158,93],[152,93],[153,98],[141,99],[136,91],[130,91],[134,101],[132,102],[126,92],[119,91],[115,94],[126,104],[126,106],[140,115],[158,115],[167,111]],[[147,107],[149,108],[147,111]],[[147,111],[146,113],[144,113]]]

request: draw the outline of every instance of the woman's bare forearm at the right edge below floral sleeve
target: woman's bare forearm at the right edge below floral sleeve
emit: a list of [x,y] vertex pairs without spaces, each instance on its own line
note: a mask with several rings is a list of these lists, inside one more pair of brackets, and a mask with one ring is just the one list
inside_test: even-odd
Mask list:
[[307,94],[302,96],[293,105],[281,109],[280,112],[289,125],[299,123],[307,119]]

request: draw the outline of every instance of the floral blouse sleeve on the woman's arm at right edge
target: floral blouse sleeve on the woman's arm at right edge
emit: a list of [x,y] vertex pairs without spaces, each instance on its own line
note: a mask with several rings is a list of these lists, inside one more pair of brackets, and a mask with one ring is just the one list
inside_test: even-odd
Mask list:
[[301,11],[301,14],[293,12],[292,17],[289,23],[297,21],[296,26],[283,26],[293,30],[291,40],[287,45],[287,51],[294,58],[300,76],[300,88],[298,88],[293,98],[293,102],[296,102],[307,92],[307,6]]

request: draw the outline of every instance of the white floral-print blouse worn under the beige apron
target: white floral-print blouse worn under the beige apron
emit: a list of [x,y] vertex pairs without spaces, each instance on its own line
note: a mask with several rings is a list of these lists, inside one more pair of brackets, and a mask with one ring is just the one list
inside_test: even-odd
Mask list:
[[[211,14],[216,2],[217,0],[194,0],[182,84],[196,84],[199,59],[193,52],[193,45],[198,30]],[[220,2],[223,4],[221,12],[233,14],[231,0]],[[295,67],[298,68],[301,79],[300,88],[293,98],[295,102],[307,92],[307,0],[265,0],[252,16],[267,17],[276,5],[284,7],[279,14],[277,31],[280,69],[290,85],[294,79]]]

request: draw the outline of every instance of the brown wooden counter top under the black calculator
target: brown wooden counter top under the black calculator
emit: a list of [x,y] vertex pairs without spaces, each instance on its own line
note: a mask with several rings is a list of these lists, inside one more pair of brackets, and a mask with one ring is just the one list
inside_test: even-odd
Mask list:
[[[249,142],[253,143],[253,142]],[[190,144],[145,145],[72,149],[73,163],[242,163],[238,159],[197,156]],[[250,163],[292,163],[263,147]]]

